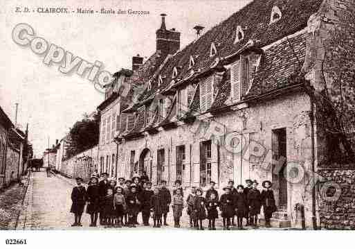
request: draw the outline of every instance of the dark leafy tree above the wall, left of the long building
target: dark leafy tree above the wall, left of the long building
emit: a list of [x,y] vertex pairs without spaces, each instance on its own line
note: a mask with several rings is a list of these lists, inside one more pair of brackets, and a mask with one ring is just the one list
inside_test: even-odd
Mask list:
[[82,151],[98,144],[100,115],[95,113],[93,117],[84,114],[81,121],[77,121],[73,128],[69,130],[66,139],[66,156],[72,157]]

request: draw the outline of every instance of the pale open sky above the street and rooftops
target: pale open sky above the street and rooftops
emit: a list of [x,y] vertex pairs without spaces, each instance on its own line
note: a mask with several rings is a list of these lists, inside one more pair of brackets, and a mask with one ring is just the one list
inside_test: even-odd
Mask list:
[[[196,38],[193,27],[203,32],[219,24],[245,6],[247,0],[2,0],[0,8],[0,105],[15,123],[15,103],[19,103],[17,123],[25,130],[36,157],[69,132],[84,113],[91,113],[104,100],[93,84],[77,74],[62,74],[60,64],[45,65],[44,55],[12,40],[17,24],[29,24],[36,37],[62,47],[88,62],[102,62],[100,70],[112,74],[131,69],[131,57],[145,60],[156,49],[155,32],[166,13],[168,29],[181,32],[181,48]],[[38,8],[68,8],[69,13],[39,13]],[[16,12],[28,8],[30,12]],[[148,15],[79,14],[77,8],[99,11],[143,10]],[[42,9],[40,9],[42,10]],[[74,12],[72,12],[74,11]]]

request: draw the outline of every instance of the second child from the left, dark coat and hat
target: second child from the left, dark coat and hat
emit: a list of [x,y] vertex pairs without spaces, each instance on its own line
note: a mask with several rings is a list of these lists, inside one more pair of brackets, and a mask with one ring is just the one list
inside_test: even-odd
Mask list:
[[100,211],[99,191],[98,178],[91,176],[89,187],[87,187],[87,214],[90,214],[91,227],[95,227],[98,222],[98,213]]

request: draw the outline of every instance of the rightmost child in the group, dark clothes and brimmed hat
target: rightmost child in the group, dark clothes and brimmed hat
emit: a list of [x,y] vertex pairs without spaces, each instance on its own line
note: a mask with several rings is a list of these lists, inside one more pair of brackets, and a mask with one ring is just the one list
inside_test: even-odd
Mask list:
[[273,212],[276,211],[275,197],[273,196],[273,190],[271,189],[272,183],[269,180],[265,180],[262,182],[262,190],[261,199],[262,206],[264,207],[264,217],[265,217],[265,226],[271,227],[270,218],[273,216]]

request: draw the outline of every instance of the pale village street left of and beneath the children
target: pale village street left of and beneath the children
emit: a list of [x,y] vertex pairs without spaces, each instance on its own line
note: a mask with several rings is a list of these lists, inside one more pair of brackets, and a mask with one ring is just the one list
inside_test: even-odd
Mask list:
[[[71,190],[73,189],[75,180],[64,178],[62,175],[52,175],[46,177],[45,171],[33,172],[30,180],[28,193],[24,201],[24,211],[22,212],[17,230],[78,230],[78,229],[104,229],[104,227],[89,227],[89,214],[83,214],[82,227],[71,227],[73,223],[73,214],[69,212],[71,207]],[[172,212],[169,213],[167,223],[168,227],[159,229],[181,229],[174,228],[174,220]],[[141,214],[138,216],[138,223],[142,223]],[[152,220],[150,221],[152,223]],[[205,227],[207,227],[205,221]],[[217,230],[221,229],[221,221],[217,221]],[[183,211],[181,227],[191,229],[188,223],[188,216]],[[110,230],[136,230],[136,229],[152,229],[152,227],[144,227],[138,225],[136,228],[109,228]]]

